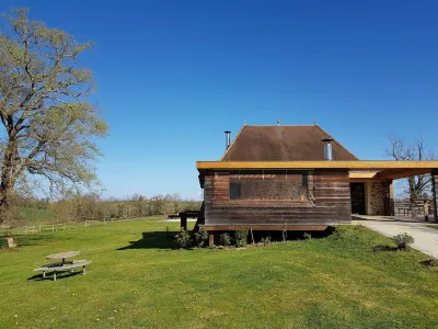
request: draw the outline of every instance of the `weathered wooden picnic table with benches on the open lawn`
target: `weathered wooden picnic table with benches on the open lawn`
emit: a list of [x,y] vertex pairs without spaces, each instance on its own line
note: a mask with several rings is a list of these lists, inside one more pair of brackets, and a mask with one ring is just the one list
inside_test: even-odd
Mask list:
[[66,261],[67,258],[76,257],[80,254],[80,251],[66,251],[49,254],[46,259],[49,260],[61,260],[61,262],[49,263],[43,266],[36,268],[34,271],[43,272],[43,279],[46,277],[46,273],[54,273],[54,281],[56,281],[56,274],[60,272],[74,272],[74,269],[82,268],[82,274],[85,275],[85,266],[91,264],[91,261],[87,260],[72,260]]

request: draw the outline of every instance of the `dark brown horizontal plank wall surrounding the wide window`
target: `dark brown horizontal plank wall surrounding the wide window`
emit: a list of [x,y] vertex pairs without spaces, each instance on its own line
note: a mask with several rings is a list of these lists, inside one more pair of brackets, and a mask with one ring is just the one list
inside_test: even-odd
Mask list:
[[331,225],[350,222],[347,171],[313,171],[308,186],[314,202],[230,200],[228,172],[206,174],[206,225]]

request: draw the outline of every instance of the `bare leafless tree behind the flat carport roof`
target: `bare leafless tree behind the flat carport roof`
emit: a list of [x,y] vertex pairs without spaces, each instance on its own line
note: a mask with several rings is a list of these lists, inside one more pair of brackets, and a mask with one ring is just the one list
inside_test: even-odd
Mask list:
[[[414,161],[414,160],[435,160],[437,155],[434,150],[429,149],[424,139],[415,139],[414,143],[407,144],[399,137],[390,136],[390,146],[385,149],[384,154],[388,158],[396,161]],[[404,179],[405,193],[408,194],[411,200],[423,198],[429,194],[431,186],[430,174],[418,174]]]

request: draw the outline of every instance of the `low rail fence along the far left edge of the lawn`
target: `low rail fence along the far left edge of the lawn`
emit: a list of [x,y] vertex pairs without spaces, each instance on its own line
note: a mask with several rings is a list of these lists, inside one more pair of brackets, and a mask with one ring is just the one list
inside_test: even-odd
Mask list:
[[138,218],[104,218],[103,220],[84,220],[84,222],[70,222],[70,223],[58,223],[58,224],[42,224],[22,227],[7,227],[0,228],[0,237],[7,236],[26,236],[26,235],[39,235],[45,231],[58,231],[78,228],[80,226],[89,227],[96,225],[104,225],[115,222],[130,222]]

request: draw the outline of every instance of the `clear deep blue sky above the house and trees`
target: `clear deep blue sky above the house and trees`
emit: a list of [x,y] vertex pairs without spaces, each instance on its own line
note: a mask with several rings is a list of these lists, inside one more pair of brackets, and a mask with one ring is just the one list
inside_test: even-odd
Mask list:
[[390,134],[436,145],[438,1],[2,0],[94,41],[110,137],[107,195],[198,197],[196,160],[216,160],[223,131],[313,124],[361,159]]

